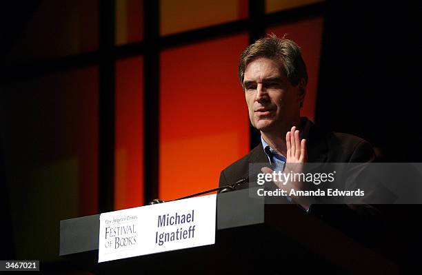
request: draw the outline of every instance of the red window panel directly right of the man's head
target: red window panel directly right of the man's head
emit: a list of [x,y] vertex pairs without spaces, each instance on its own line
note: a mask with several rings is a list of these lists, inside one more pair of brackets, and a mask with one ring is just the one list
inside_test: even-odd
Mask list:
[[319,17],[298,21],[296,23],[283,24],[282,26],[268,28],[266,31],[268,33],[277,34],[278,37],[283,37],[284,34],[288,34],[287,38],[292,39],[301,47],[309,78],[301,115],[308,116],[310,120],[314,121],[323,18]]

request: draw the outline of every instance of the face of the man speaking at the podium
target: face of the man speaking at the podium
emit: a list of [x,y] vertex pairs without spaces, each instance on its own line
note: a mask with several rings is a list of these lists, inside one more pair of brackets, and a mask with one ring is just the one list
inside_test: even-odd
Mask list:
[[284,131],[299,121],[304,94],[292,86],[280,65],[261,57],[246,66],[243,87],[250,122],[262,132]]

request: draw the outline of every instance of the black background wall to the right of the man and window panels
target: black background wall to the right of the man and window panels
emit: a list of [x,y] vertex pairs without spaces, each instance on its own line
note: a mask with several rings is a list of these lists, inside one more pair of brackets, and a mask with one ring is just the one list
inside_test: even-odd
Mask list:
[[391,162],[419,162],[419,5],[332,1],[327,8],[316,120],[363,136]]

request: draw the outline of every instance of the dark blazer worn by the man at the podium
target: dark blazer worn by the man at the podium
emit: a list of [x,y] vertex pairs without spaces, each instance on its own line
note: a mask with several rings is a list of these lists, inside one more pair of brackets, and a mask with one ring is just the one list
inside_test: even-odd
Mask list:
[[[304,120],[305,118],[302,118]],[[307,148],[310,163],[366,163],[375,159],[374,150],[367,141],[351,134],[324,131],[309,121]],[[250,163],[268,163],[268,157],[260,143],[247,155],[221,171],[219,186],[235,183],[248,178]],[[248,187],[248,184],[240,188]],[[296,207],[283,205],[283,207]],[[346,234],[365,243],[373,241],[372,231],[379,226],[378,210],[370,205],[311,205],[308,213],[321,218]]]

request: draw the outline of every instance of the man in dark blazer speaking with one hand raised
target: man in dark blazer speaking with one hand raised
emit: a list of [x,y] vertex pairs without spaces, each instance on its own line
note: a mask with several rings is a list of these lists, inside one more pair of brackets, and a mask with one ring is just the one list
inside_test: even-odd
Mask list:
[[[261,171],[271,173],[272,170],[283,171],[291,163],[365,163],[374,160],[372,147],[363,139],[325,132],[300,117],[308,74],[301,50],[294,41],[284,37],[279,39],[272,34],[248,46],[239,62],[239,79],[245,92],[250,122],[261,132],[261,143],[221,172],[220,186],[235,183],[248,175],[250,163],[268,163],[272,169],[263,167]],[[301,188],[301,185],[295,186]],[[312,198],[292,196],[291,199],[312,214],[322,216],[327,212],[325,205],[311,207]],[[343,205],[332,207],[328,212],[336,216],[339,210],[352,210],[353,213],[359,208]]]

